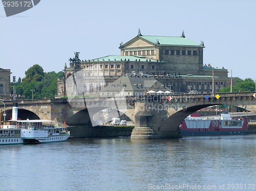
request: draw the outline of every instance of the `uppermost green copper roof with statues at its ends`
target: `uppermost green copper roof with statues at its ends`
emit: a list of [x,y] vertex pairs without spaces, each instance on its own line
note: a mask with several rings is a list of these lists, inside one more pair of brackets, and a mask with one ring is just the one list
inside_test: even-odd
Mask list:
[[181,46],[201,46],[199,43],[189,40],[188,38],[183,37],[173,37],[173,36],[139,36],[148,40],[152,43],[157,44],[157,40],[160,43],[159,45],[181,45]]

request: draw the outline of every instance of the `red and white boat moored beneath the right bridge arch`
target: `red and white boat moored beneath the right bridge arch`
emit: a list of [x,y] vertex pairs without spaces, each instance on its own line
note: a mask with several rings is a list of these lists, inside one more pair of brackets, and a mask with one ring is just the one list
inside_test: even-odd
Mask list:
[[246,117],[231,117],[222,113],[220,117],[200,117],[200,114],[190,114],[180,125],[182,136],[200,135],[240,135],[248,133]]

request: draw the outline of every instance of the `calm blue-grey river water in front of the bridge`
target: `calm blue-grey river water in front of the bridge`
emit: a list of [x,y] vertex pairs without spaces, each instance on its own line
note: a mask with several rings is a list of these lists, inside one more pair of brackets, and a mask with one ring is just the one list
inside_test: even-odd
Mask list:
[[69,139],[0,146],[0,159],[1,191],[256,190],[256,135]]

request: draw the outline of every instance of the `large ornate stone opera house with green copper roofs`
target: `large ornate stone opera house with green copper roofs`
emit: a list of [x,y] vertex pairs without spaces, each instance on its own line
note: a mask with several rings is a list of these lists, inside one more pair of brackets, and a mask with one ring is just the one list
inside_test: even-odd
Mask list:
[[[204,43],[185,37],[143,36],[140,31],[130,41],[120,44],[121,55],[80,60],[79,53],[65,64],[63,79],[58,80],[58,97],[83,94],[99,95],[99,90],[127,73],[153,76],[175,92],[197,90],[199,93],[230,86],[228,70],[203,64]],[[79,84],[73,83],[79,71]],[[214,73],[214,77],[212,77]],[[100,75],[99,75],[100,74]],[[72,78],[69,83],[67,79]],[[73,81],[73,82],[72,82]],[[233,84],[236,81],[233,80]],[[78,91],[79,90],[79,91]]]

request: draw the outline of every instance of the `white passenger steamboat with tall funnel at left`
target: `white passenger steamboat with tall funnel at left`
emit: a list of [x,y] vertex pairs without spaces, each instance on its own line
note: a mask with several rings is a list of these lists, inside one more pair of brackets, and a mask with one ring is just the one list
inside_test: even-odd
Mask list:
[[4,121],[1,125],[0,145],[65,141],[70,136],[66,127],[55,127],[51,124],[54,121],[17,120],[17,111],[14,106],[12,120]]

